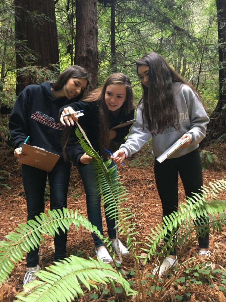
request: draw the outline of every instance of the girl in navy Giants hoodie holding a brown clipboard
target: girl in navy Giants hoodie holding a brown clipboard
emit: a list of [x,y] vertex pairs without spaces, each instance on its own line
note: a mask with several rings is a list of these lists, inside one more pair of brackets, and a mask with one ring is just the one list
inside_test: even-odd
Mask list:
[[[45,210],[45,188],[48,175],[50,189],[50,209],[67,207],[67,190],[70,178],[70,163],[64,162],[61,147],[61,133],[64,126],[58,118],[59,109],[71,100],[79,100],[88,85],[88,74],[81,66],[65,69],[54,83],[28,85],[18,96],[9,119],[11,139],[15,146],[14,155],[18,159],[27,156],[20,149],[29,136],[27,144],[38,146],[60,155],[51,172],[46,172],[22,164],[22,179],[27,201],[27,219],[35,219]],[[66,256],[67,231],[59,228],[54,238],[55,261]],[[27,253],[27,272],[24,284],[35,279],[39,271],[39,248]]]

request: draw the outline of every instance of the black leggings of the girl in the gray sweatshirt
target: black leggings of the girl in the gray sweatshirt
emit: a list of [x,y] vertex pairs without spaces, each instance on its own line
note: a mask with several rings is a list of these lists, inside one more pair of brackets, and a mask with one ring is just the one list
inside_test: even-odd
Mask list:
[[[162,163],[155,159],[155,181],[162,202],[163,217],[177,210],[178,173],[184,185],[186,197],[191,197],[192,193],[200,193],[202,162],[198,149],[178,158],[166,159]],[[201,224],[199,222],[199,225]],[[199,247],[209,247],[209,233],[206,233],[205,237],[199,237]],[[176,255],[175,250],[170,252],[170,255]]]

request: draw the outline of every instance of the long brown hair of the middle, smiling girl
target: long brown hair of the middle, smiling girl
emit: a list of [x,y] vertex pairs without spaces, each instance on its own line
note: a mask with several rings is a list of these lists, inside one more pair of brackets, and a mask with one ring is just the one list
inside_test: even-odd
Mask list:
[[109,114],[110,111],[105,103],[105,92],[108,85],[118,84],[125,85],[126,88],[126,98],[119,110],[123,111],[125,114],[128,114],[133,108],[133,91],[130,79],[127,75],[116,72],[109,76],[104,84],[97,89],[94,89],[92,92],[87,95],[84,101],[99,101],[98,113],[99,113],[99,148],[103,154],[105,154],[104,148],[109,148],[110,139],[109,139]]

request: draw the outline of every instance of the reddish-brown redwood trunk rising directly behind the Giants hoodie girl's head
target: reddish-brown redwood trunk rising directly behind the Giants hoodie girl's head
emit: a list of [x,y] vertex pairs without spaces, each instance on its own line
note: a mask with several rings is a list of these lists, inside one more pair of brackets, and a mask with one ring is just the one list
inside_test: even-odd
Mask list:
[[97,87],[97,7],[95,0],[76,1],[76,35],[74,64],[86,68],[89,90]]

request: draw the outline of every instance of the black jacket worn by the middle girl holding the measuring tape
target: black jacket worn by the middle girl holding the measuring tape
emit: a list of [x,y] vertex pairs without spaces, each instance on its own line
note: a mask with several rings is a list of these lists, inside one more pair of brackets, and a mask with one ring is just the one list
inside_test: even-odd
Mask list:
[[[91,145],[96,151],[99,150],[99,115],[98,115],[98,106],[99,101],[86,102],[86,101],[77,101],[70,106],[75,110],[84,110],[84,116],[79,117],[79,124],[85,131]],[[65,106],[64,106],[65,107]],[[60,114],[63,110],[60,109]],[[134,109],[132,109],[128,114],[125,114],[122,110],[115,117],[111,112],[109,113],[109,128],[127,122],[128,120],[133,120],[134,118]],[[113,142],[120,142],[124,137],[129,133],[131,124],[122,128],[115,129],[117,132],[116,137],[112,140]],[[75,164],[80,164],[80,158],[84,154],[84,151],[79,143],[77,143],[77,136],[75,135],[74,128],[71,132],[71,138],[67,144],[67,155],[70,160]]]

